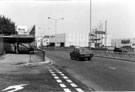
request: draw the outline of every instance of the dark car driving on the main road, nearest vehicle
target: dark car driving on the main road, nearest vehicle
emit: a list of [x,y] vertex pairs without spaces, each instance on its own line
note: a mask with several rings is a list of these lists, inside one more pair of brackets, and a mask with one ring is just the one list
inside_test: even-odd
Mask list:
[[70,52],[70,57],[73,60],[82,60],[82,59],[88,59],[91,60],[93,57],[93,53],[91,50],[87,48],[75,48],[72,52]]

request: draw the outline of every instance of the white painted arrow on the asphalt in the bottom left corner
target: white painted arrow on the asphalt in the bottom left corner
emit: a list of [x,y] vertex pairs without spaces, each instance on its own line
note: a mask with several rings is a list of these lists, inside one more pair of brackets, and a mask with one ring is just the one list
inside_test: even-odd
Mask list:
[[[28,85],[28,84],[13,85],[13,86],[9,86],[9,87],[3,89],[2,91],[3,91],[3,92],[4,92],[4,91],[6,91],[6,92],[16,92],[16,91],[18,91],[18,90],[23,89],[24,86],[26,86],[26,85]],[[7,91],[7,90],[9,90],[9,91]]]

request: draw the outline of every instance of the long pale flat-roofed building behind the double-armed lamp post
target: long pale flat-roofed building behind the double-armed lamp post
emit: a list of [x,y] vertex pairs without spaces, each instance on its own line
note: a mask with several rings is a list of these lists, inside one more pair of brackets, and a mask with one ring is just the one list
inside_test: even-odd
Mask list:
[[[56,36],[56,37],[55,37]],[[50,36],[50,45],[59,47],[80,46],[88,47],[89,38],[86,33],[63,33]]]

